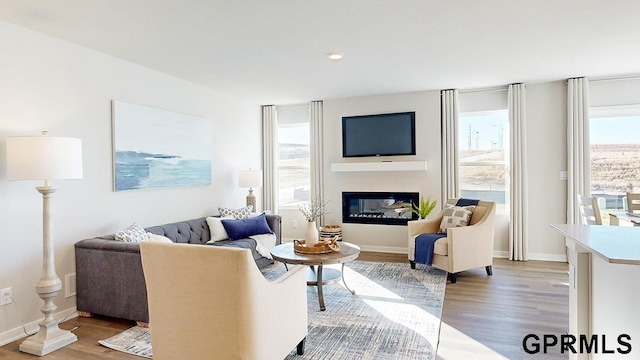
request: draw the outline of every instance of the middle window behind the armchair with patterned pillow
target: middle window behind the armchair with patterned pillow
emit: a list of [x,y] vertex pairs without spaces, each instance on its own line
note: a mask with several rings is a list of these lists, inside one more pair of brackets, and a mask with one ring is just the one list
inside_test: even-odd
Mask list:
[[461,113],[458,122],[460,195],[509,205],[509,118],[507,110]]

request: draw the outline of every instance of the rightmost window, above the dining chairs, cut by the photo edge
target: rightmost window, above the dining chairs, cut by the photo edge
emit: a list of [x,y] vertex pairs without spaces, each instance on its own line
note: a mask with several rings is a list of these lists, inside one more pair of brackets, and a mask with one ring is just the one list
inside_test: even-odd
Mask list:
[[591,194],[608,211],[625,211],[627,192],[640,192],[640,105],[591,108]]

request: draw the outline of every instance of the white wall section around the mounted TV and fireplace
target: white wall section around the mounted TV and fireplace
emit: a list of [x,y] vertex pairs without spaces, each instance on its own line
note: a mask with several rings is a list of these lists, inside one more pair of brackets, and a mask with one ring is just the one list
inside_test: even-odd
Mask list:
[[[379,113],[416,112],[416,155],[384,158],[342,157],[342,117]],[[343,191],[419,192],[440,198],[440,93],[416,92],[324,101],[324,181],[329,200],[327,223],[342,223]],[[426,160],[429,170],[395,172],[331,172],[331,163]],[[434,211],[435,213],[435,211]],[[345,241],[363,250],[406,253],[407,227],[342,224]]]

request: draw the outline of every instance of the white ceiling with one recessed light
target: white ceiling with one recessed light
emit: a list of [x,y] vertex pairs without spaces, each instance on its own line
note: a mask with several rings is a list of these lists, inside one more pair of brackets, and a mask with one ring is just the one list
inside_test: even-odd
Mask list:
[[261,104],[640,73],[638,0],[0,0],[0,20]]

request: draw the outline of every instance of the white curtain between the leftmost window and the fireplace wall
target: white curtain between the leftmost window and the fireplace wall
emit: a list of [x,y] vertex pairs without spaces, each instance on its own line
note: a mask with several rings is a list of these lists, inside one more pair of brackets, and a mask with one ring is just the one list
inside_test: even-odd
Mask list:
[[[322,101],[309,103],[309,121],[311,137],[311,196],[321,196],[324,200],[324,140]],[[324,216],[318,219],[318,225],[324,225]]]

